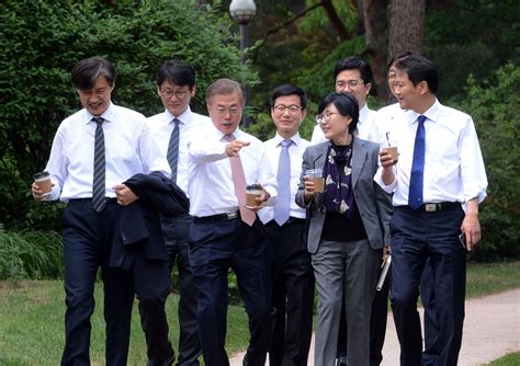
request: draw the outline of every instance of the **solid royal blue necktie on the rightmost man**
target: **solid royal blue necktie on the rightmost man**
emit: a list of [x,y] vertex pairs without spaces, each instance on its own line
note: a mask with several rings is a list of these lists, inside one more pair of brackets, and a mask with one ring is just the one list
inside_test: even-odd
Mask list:
[[417,118],[416,141],[414,145],[414,160],[411,162],[410,190],[408,192],[408,205],[418,209],[422,203],[422,183],[425,180],[425,121],[426,116]]

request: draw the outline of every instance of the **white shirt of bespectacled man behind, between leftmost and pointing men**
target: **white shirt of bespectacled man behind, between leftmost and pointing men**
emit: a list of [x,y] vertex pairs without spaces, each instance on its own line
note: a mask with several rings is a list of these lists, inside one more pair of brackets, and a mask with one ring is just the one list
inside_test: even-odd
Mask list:
[[[148,118],[148,126],[151,135],[158,145],[160,157],[166,159],[171,131],[176,124],[173,116],[168,110]],[[177,116],[179,123],[179,160],[177,165],[177,185],[188,193],[188,147],[196,137],[200,130],[212,123],[211,118],[202,114],[194,113],[190,106]]]

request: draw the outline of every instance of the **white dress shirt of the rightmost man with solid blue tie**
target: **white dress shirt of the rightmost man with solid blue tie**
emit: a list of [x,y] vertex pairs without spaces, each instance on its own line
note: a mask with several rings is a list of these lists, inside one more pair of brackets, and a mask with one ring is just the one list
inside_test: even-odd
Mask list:
[[[481,203],[486,197],[487,178],[472,117],[437,100],[423,115],[427,117],[423,202],[465,203],[478,197]],[[414,111],[406,111],[389,126],[399,150],[394,182],[384,184],[382,168],[374,176],[386,192],[394,192],[394,206],[408,205],[418,116]]]

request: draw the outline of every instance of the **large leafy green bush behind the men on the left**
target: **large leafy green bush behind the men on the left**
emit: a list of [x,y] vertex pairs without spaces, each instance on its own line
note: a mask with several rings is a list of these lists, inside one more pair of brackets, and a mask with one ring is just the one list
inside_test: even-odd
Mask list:
[[79,60],[97,55],[112,60],[118,72],[113,101],[145,115],[162,110],[156,71],[170,57],[185,59],[197,71],[195,111],[203,112],[203,91],[217,78],[257,82],[240,64],[236,43],[229,43],[235,39],[227,14],[196,3],[2,3],[0,201],[9,205],[0,206],[0,220],[7,227],[38,222],[42,206],[30,204],[29,186],[32,174],[45,167],[57,126],[81,107],[70,83],[70,69]]

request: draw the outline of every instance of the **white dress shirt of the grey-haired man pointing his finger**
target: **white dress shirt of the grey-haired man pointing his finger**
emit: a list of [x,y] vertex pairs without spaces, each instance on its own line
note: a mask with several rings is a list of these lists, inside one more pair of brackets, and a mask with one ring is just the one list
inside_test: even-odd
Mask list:
[[[263,205],[272,205],[276,198],[276,176],[265,155],[263,144],[252,135],[236,129],[236,139],[249,141],[240,150],[240,161],[246,184],[261,183],[271,195]],[[226,155],[224,134],[211,123],[200,131],[188,149],[188,193],[190,215],[205,217],[238,209],[231,165]],[[263,209],[263,208],[262,208]]]

